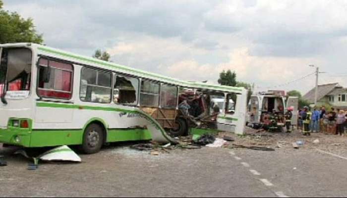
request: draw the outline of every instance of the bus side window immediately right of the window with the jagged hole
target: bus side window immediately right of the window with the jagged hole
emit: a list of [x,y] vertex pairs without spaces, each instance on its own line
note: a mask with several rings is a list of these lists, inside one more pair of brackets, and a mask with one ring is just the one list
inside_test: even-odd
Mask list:
[[159,84],[153,81],[144,80],[141,82],[141,106],[159,106]]

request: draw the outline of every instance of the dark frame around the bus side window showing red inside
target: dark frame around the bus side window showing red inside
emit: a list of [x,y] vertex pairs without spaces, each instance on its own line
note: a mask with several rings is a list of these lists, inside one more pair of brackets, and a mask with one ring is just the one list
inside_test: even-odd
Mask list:
[[[40,64],[40,60],[41,59],[46,59],[48,61],[48,65],[41,65]],[[51,89],[44,89],[44,88],[39,88],[39,84],[40,84],[40,67],[48,67],[50,65],[50,61],[56,61],[56,62],[60,62],[60,63],[64,63],[64,64],[69,64],[72,66],[72,70],[68,70],[68,69],[61,69],[61,68],[57,68],[57,67],[52,67],[54,69],[58,69],[58,70],[62,70],[62,71],[70,71],[71,72],[71,83],[70,83],[70,92],[67,91],[62,91],[62,90],[51,90]],[[74,85],[74,73],[75,73],[75,67],[74,64],[68,61],[64,61],[64,60],[60,60],[57,58],[52,58],[52,57],[48,57],[48,56],[39,56],[39,59],[37,60],[36,63],[36,68],[37,68],[37,72],[36,72],[36,95],[40,98],[40,99],[58,99],[58,100],[71,100],[72,96],[73,96],[73,85]],[[68,93],[71,94],[69,99],[63,99],[63,98],[56,98],[56,97],[43,97],[39,95],[39,90],[44,90],[44,91],[52,91],[52,92],[60,92],[60,93]]]

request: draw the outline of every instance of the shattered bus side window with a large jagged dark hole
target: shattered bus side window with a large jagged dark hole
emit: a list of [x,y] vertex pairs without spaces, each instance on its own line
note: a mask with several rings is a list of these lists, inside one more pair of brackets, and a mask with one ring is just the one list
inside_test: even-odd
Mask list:
[[116,75],[115,79],[114,102],[118,104],[136,105],[138,101],[139,80],[122,75]]

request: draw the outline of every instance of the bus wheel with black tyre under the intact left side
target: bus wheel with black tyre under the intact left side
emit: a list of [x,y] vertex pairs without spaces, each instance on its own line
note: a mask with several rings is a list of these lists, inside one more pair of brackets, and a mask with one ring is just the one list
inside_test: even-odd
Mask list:
[[81,150],[87,154],[97,153],[103,146],[103,141],[103,128],[98,124],[90,124],[84,131]]

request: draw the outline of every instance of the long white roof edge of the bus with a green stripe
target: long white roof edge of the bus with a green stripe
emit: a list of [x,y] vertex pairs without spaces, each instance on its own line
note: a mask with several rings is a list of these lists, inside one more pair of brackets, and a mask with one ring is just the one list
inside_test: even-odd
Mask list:
[[93,57],[78,55],[75,53],[63,51],[60,49],[54,49],[50,47],[46,47],[43,45],[38,44],[30,44],[30,43],[18,43],[18,44],[3,44],[0,45],[0,47],[30,47],[33,49],[38,50],[38,54],[57,57],[60,59],[65,59],[68,61],[81,63],[85,65],[95,66],[102,69],[109,69],[109,70],[116,70],[120,73],[125,73],[133,76],[138,76],[141,78],[151,79],[163,83],[173,84],[180,87],[187,87],[187,88],[197,88],[201,90],[211,90],[211,91],[220,91],[220,92],[228,92],[228,93],[235,93],[235,94],[242,94],[244,93],[245,89],[243,87],[230,87],[230,86],[222,86],[222,85],[211,85],[206,83],[199,83],[199,82],[187,82],[182,81],[174,78],[170,78],[167,76],[163,76],[160,74],[147,72],[139,69],[135,69],[132,67],[116,64],[113,62],[103,61],[99,60]]

